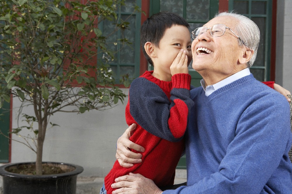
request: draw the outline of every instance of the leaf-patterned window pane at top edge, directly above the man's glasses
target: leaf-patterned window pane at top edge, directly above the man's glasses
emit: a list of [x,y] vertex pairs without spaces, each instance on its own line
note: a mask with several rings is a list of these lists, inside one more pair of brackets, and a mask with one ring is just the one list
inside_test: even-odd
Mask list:
[[210,1],[187,0],[186,19],[189,20],[209,20]]

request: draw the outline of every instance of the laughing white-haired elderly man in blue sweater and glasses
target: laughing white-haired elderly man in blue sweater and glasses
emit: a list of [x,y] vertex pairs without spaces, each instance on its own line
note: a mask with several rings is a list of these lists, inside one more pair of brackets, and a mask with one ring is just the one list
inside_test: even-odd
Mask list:
[[[249,71],[258,27],[242,15],[220,13],[192,33],[192,67],[203,87],[191,90],[187,186],[164,193],[292,193],[288,102]],[[140,174],[116,182],[113,188],[123,188],[113,193],[162,193]]]

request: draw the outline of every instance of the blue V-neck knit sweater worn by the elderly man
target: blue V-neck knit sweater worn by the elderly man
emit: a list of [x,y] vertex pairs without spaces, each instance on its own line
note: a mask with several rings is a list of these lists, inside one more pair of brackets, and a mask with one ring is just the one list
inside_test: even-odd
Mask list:
[[187,186],[164,193],[292,193],[290,109],[284,96],[243,77],[195,104],[186,138]]

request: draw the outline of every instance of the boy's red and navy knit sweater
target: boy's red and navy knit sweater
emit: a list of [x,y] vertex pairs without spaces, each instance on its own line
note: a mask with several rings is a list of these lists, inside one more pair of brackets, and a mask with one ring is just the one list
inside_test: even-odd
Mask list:
[[140,173],[158,186],[173,184],[175,167],[185,148],[187,116],[194,105],[190,99],[191,76],[175,74],[166,82],[152,73],[146,71],[131,83],[126,105],[127,124],[137,124],[130,140],[145,148],[142,163],[124,168],[116,161],[105,177],[107,193],[114,190],[111,184],[115,178],[129,172]]

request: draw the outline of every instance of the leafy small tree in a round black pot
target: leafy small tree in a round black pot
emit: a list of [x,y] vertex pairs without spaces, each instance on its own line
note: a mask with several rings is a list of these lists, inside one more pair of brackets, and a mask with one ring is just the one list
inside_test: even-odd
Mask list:
[[[43,144],[48,126],[57,125],[49,122],[50,117],[56,112],[84,113],[105,109],[124,100],[125,95],[114,85],[107,64],[113,59],[114,52],[108,49],[107,37],[98,28],[100,22],[110,20],[114,24],[112,32],[127,29],[128,22],[117,18],[116,14],[116,9],[123,4],[123,0],[84,3],[69,0],[7,0],[0,3],[0,107],[4,100],[9,102],[11,96],[18,97],[22,102],[19,115],[27,122],[27,126],[14,128],[12,133],[21,135],[24,130],[31,131],[30,135],[22,135],[24,142],[21,143],[36,153],[36,162],[25,165],[26,168],[33,166],[31,173],[37,177],[43,176],[45,182],[48,182],[48,175],[42,175],[45,165],[42,162]],[[125,43],[128,43],[127,39],[115,40],[115,44]],[[97,57],[99,54],[102,57]],[[96,65],[90,65],[92,60]],[[34,114],[23,114],[23,106],[32,107]],[[69,106],[75,109],[68,110]],[[33,123],[37,123],[37,128]],[[34,143],[30,144],[31,141]],[[82,167],[50,165],[65,171],[62,174],[65,174],[66,183],[69,171],[78,171],[73,173],[72,182],[75,182],[75,186],[70,186],[69,191],[59,192],[74,193],[76,177],[82,172]],[[14,193],[20,189],[13,190],[20,183],[10,182],[10,178],[17,174],[13,170],[19,166],[9,164],[1,168],[4,193]],[[56,177],[57,172],[53,173],[50,176]],[[31,180],[32,176],[20,175],[22,182],[25,177]],[[7,186],[6,182],[11,186]],[[37,181],[36,184],[44,187],[44,181]],[[50,187],[54,184],[57,183],[50,183]],[[61,188],[58,184],[57,187]],[[32,192],[30,189],[28,193]],[[52,192],[51,189],[45,190]],[[45,190],[39,191],[45,193]],[[25,189],[21,193],[25,193]]]

